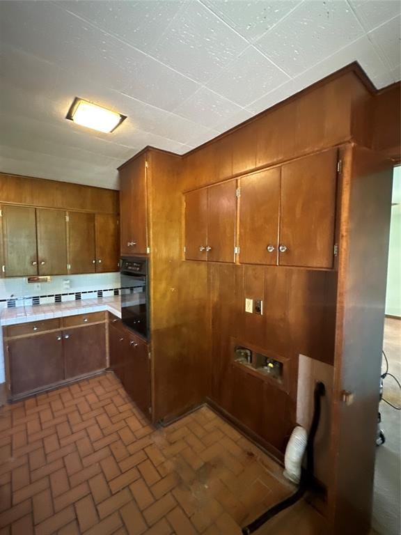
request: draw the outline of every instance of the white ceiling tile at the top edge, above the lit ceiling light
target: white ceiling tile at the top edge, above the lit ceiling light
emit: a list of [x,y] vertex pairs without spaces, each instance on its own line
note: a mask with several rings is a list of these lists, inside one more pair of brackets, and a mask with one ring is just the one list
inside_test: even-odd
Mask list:
[[150,49],[184,0],[58,1],[70,13],[139,49]]

